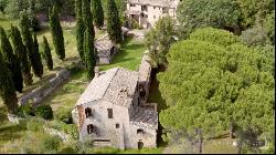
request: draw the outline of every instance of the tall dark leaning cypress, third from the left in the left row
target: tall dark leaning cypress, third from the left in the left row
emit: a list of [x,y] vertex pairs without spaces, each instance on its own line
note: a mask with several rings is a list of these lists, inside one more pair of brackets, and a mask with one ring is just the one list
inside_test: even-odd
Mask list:
[[11,40],[13,44],[13,52],[20,62],[24,83],[25,85],[31,85],[33,82],[31,74],[31,65],[26,56],[26,50],[22,42],[20,31],[17,27],[11,27]]

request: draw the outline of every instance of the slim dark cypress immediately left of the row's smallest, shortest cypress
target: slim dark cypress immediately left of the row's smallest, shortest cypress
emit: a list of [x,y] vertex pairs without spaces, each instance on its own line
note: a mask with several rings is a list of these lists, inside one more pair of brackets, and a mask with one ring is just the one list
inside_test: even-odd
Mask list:
[[33,65],[33,73],[38,78],[42,78],[43,75],[43,64],[41,61],[41,55],[40,55],[40,50],[39,50],[39,42],[36,39],[35,33],[33,33],[33,52],[32,52],[32,59],[34,60],[34,65]]

